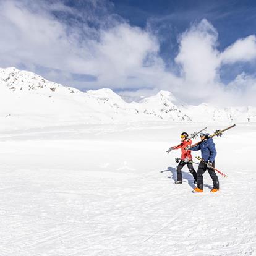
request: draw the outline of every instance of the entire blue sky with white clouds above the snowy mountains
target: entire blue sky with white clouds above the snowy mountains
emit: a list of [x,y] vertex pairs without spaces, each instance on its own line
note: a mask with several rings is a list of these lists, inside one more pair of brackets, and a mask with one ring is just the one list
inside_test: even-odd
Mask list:
[[0,67],[130,97],[255,106],[256,2],[0,0]]

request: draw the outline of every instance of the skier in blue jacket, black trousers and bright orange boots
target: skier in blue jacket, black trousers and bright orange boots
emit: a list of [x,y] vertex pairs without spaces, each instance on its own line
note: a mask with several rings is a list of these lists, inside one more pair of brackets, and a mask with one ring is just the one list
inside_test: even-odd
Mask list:
[[191,151],[201,150],[202,158],[207,163],[201,161],[198,166],[197,187],[193,192],[203,192],[203,173],[205,173],[206,170],[208,170],[208,173],[213,180],[213,189],[211,189],[211,192],[215,193],[219,190],[219,179],[213,169],[215,167],[215,156],[217,155],[217,152],[213,139],[209,138],[208,135],[209,134],[201,133],[201,142],[197,146],[189,148]]

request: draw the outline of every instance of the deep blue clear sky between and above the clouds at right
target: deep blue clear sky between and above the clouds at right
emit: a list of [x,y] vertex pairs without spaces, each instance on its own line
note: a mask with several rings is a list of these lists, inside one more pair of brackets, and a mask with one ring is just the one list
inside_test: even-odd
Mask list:
[[[219,34],[218,49],[231,45],[238,38],[256,33],[256,2],[251,0],[174,0],[143,1],[117,0],[114,12],[129,20],[129,23],[147,28],[160,27],[158,36],[162,39],[160,55],[168,65],[177,54],[178,36],[191,23],[207,19]],[[239,72],[254,73],[254,66],[247,63],[233,67],[225,67],[221,72],[224,83],[230,82]]]

